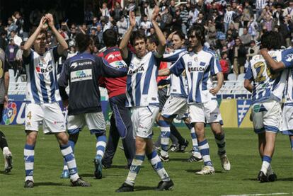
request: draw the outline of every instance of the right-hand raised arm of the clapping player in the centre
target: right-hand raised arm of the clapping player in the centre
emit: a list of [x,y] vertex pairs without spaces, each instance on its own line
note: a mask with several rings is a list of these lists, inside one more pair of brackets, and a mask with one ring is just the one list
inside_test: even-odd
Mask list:
[[156,50],[159,54],[163,55],[163,53],[165,52],[165,47],[166,47],[166,38],[165,38],[165,35],[163,35],[163,32],[161,31],[161,29],[159,28],[158,23],[156,23],[156,17],[159,15],[159,11],[160,11],[159,6],[155,6],[153,15],[151,16],[151,23],[153,24],[153,27],[156,31],[156,35],[158,36],[159,42],[160,42]]

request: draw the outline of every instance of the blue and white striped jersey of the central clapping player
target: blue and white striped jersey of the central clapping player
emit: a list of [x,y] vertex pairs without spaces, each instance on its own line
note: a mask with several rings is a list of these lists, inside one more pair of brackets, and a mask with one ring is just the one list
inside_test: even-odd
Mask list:
[[[127,73],[127,107],[158,105],[159,59],[156,52],[149,52],[141,59],[129,52],[130,66]],[[127,60],[125,60],[129,64]]]

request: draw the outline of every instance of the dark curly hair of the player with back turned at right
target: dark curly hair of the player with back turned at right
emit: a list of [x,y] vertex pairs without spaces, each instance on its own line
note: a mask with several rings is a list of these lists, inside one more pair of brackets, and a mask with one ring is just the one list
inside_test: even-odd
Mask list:
[[277,32],[268,31],[263,33],[260,38],[260,44],[262,48],[267,48],[268,50],[277,50],[281,48],[280,45],[280,35]]

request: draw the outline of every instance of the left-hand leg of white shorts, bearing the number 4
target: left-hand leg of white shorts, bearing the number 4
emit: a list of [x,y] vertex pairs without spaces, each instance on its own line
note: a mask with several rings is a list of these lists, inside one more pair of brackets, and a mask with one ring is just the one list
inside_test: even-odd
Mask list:
[[38,104],[25,105],[25,130],[38,131],[40,122],[44,118],[44,111]]

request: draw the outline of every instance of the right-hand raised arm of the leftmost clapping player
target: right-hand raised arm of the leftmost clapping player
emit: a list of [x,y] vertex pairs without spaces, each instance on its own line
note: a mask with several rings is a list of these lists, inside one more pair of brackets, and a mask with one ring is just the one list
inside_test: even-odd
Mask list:
[[59,42],[59,45],[57,47],[57,52],[59,55],[62,55],[68,49],[67,42],[64,40],[62,35],[58,32],[58,30],[55,28],[54,18],[52,16],[52,14],[47,13],[45,17],[47,18],[48,25],[50,26],[52,33],[54,33],[54,35],[57,39],[57,42]]

